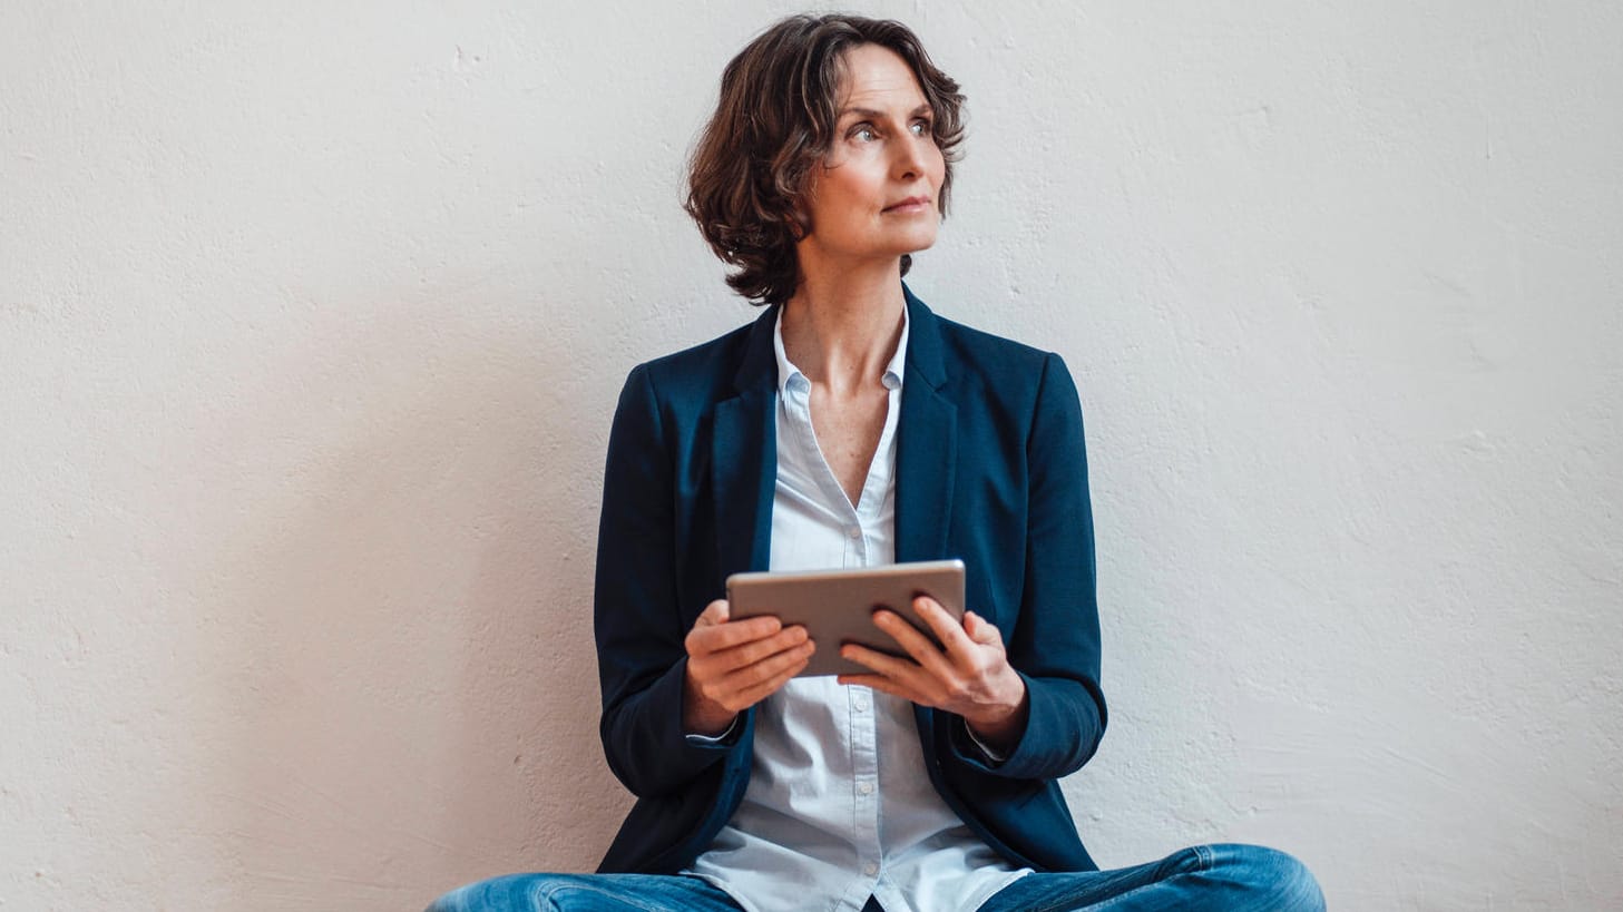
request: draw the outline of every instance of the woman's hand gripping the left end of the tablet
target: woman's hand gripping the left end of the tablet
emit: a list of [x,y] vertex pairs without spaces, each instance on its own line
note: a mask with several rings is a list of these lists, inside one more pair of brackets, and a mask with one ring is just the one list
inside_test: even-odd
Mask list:
[[704,607],[685,646],[682,727],[708,737],[721,735],[738,712],[777,693],[816,651],[800,625],[784,626],[774,617],[729,620],[725,599]]

